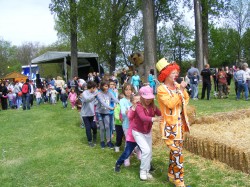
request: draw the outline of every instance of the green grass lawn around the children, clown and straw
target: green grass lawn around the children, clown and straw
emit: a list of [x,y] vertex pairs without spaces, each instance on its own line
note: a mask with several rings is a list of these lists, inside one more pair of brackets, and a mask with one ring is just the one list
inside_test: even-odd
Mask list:
[[[199,115],[248,107],[246,101],[190,101]],[[224,107],[223,107],[224,106]],[[169,150],[154,147],[154,181],[139,180],[139,161],[114,172],[121,153],[87,145],[75,110],[55,106],[34,106],[29,111],[0,111],[0,186],[169,186],[166,182]],[[98,136],[99,142],[99,136]],[[249,175],[184,151],[185,181],[192,187],[250,186]]]

